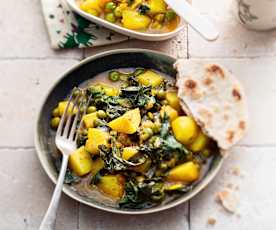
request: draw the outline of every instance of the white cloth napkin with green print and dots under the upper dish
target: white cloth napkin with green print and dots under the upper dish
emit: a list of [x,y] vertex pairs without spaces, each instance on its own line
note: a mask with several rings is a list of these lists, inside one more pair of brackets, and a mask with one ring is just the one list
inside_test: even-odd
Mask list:
[[102,46],[128,39],[73,13],[66,0],[41,1],[51,46],[54,49]]

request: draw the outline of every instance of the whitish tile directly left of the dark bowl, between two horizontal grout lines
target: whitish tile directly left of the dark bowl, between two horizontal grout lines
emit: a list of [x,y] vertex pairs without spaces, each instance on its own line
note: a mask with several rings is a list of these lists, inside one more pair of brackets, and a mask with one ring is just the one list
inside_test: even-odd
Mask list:
[[0,146],[32,146],[41,100],[75,60],[0,61]]

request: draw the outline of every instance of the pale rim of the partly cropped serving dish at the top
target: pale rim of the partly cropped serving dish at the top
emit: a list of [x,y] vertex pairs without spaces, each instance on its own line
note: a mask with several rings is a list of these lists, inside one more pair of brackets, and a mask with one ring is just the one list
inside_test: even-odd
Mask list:
[[111,29],[113,31],[116,31],[118,33],[124,34],[126,36],[131,36],[131,37],[135,37],[138,39],[144,39],[147,41],[160,41],[160,40],[166,40],[169,39],[175,35],[177,35],[182,29],[185,28],[185,23],[182,17],[180,17],[180,23],[177,26],[176,29],[174,29],[173,31],[170,32],[166,32],[166,33],[156,33],[156,34],[151,34],[151,33],[146,33],[146,32],[139,32],[139,31],[135,31],[135,30],[131,30],[131,29],[127,29],[124,28],[122,26],[110,23],[102,18],[99,18],[97,16],[91,15],[86,13],[85,11],[81,10],[77,4],[76,4],[76,0],[66,0],[69,7],[76,12],[77,14],[85,17],[87,20],[90,20],[94,23],[97,23],[99,25],[102,25],[108,29]]

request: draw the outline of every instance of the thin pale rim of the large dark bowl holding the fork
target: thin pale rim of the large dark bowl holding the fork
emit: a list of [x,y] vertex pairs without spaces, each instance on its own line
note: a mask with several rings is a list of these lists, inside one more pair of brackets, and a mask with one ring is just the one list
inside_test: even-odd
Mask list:
[[[148,50],[148,49],[127,48],[127,49],[109,50],[109,51],[101,52],[99,54],[95,54],[95,55],[85,58],[84,60],[75,64],[69,70],[65,71],[61,75],[61,77],[58,78],[53,83],[52,87],[48,90],[48,92],[44,96],[43,100],[41,101],[42,103],[40,104],[40,107],[39,107],[39,110],[37,113],[36,122],[35,122],[35,130],[34,130],[34,146],[35,146],[36,155],[38,156],[38,159],[39,159],[39,162],[40,162],[42,168],[44,169],[44,171],[46,172],[46,174],[48,175],[48,177],[54,184],[56,184],[56,182],[57,182],[57,177],[54,175],[54,173],[52,173],[50,167],[47,167],[47,156],[46,156],[46,154],[44,154],[43,148],[41,147],[40,141],[39,141],[39,119],[40,119],[44,104],[47,102],[47,99],[48,99],[50,93],[54,90],[54,88],[58,85],[58,83],[60,81],[62,81],[69,73],[71,73],[72,71],[74,71],[77,68],[80,68],[81,66],[83,66],[84,64],[86,64],[90,61],[96,60],[101,57],[114,55],[114,54],[120,54],[120,53],[149,53],[149,54],[161,55],[161,56],[172,58],[173,60],[176,60],[174,57],[167,55],[163,52],[158,52],[158,51],[153,51],[153,50]],[[91,203],[91,202],[88,202],[88,201],[82,199],[81,196],[80,195],[78,196],[68,185],[63,185],[62,190],[67,196],[71,197],[72,199],[74,199],[80,203],[86,204],[90,207],[97,208],[97,209],[100,209],[103,211],[117,213],[117,214],[130,214],[130,215],[150,214],[150,213],[160,212],[160,211],[164,211],[164,210],[173,208],[175,206],[178,206],[178,205],[190,200],[192,197],[194,197],[200,191],[202,191],[214,179],[214,177],[219,172],[223,162],[224,162],[224,158],[221,156],[220,160],[218,161],[217,165],[215,166],[215,169],[211,172],[211,174],[208,174],[207,177],[202,179],[201,183],[198,186],[196,186],[191,191],[191,193],[188,194],[187,196],[185,196],[183,198],[179,198],[178,200],[175,200],[171,203],[165,204],[164,206],[156,206],[156,207],[153,207],[150,209],[123,210],[123,209],[115,209],[113,207],[108,207],[108,206],[100,206],[100,205],[97,205],[96,203]]]

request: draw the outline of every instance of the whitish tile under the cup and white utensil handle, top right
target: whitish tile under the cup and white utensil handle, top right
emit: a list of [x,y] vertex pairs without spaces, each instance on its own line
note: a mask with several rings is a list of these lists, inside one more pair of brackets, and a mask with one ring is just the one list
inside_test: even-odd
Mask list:
[[232,0],[194,0],[193,5],[218,27],[217,41],[203,40],[188,28],[190,57],[258,57],[276,55],[276,30],[255,32],[244,28],[235,18]]

